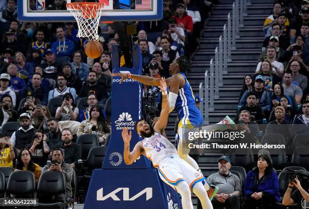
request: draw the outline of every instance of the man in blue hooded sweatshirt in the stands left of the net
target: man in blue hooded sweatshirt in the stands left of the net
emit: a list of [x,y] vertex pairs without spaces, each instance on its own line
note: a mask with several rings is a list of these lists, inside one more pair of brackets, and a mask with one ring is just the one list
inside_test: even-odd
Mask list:
[[57,51],[57,57],[71,57],[74,52],[74,43],[65,37],[65,29],[62,26],[56,28],[57,40],[52,44],[52,49]]

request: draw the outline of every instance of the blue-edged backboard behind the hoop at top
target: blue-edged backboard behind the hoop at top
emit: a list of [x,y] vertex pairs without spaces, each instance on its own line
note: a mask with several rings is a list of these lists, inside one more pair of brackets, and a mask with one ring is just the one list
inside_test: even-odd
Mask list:
[[[100,1],[106,5],[101,14],[101,21],[150,21],[161,20],[163,17],[163,0]],[[54,0],[17,0],[18,20],[23,22],[76,21],[65,7],[55,10],[47,5],[48,2],[54,3]],[[61,0],[61,2],[65,1]],[[74,2],[83,1],[67,0],[67,3]]]

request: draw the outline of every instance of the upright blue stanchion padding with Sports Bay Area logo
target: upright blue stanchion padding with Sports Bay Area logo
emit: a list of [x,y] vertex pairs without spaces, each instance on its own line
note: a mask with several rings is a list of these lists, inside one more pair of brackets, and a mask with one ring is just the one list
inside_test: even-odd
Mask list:
[[[141,74],[142,56],[138,45],[133,45],[132,57],[132,68],[120,68],[118,46],[113,46],[113,72],[130,71],[132,74]],[[131,78],[121,84],[120,80],[120,76],[114,76],[112,79],[112,135],[102,169],[147,169],[150,168],[150,163],[144,156],[140,156],[131,165],[126,165],[123,159],[122,129],[128,127],[132,131],[131,150],[140,140],[134,131],[134,125],[142,114],[142,85]]]

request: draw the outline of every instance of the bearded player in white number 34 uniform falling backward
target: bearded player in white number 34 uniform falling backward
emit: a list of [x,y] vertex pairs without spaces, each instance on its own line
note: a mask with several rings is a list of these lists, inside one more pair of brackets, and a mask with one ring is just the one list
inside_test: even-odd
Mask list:
[[153,129],[143,119],[136,122],[135,130],[143,140],[134,146],[132,152],[130,152],[131,131],[128,133],[127,128],[122,130],[124,161],[126,164],[132,164],[141,154],[145,155],[159,170],[160,178],[181,195],[184,209],[193,209],[191,192],[198,197],[203,209],[212,209],[207,191],[201,183],[204,180],[203,175],[181,159],[173,144],[162,135],[168,122],[170,107],[165,79],[162,78],[160,82],[159,88],[162,91],[160,119]]

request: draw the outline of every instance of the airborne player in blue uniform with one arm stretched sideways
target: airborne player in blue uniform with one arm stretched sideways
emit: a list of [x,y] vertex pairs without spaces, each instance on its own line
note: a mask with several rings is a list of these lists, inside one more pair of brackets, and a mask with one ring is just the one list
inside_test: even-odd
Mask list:
[[[197,162],[191,158],[188,154],[188,151],[183,149],[183,135],[184,128],[193,129],[201,127],[203,124],[202,115],[195,106],[195,98],[192,92],[190,83],[188,82],[185,73],[191,69],[191,62],[186,57],[176,58],[170,64],[170,74],[171,77],[166,79],[166,82],[169,84],[169,104],[170,111],[172,112],[176,108],[178,115],[178,154],[179,156],[187,161],[196,171],[200,171]],[[122,81],[127,78],[133,78],[145,85],[149,86],[160,86],[159,78],[153,78],[144,75],[135,75],[131,74],[129,71],[122,73],[113,73],[113,76],[121,76]],[[121,81],[121,82],[122,82]],[[233,121],[227,116],[223,119],[221,124],[230,124]],[[218,126],[217,126],[218,127]],[[216,129],[215,129],[216,130]],[[208,131],[212,131],[209,129]],[[209,184],[204,184],[205,189],[208,191],[210,189]]]

